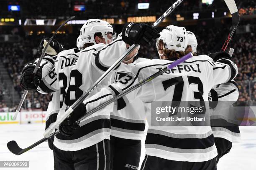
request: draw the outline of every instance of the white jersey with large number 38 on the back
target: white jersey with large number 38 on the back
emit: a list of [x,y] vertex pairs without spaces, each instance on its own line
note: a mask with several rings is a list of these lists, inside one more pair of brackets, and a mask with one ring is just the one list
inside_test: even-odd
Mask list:
[[[61,107],[57,119],[61,117],[61,113],[65,111],[67,106],[72,105],[84,92],[89,90],[89,87],[126,50],[125,42],[119,39],[108,45],[92,45],[76,53],[72,53],[72,49],[60,52],[54,65],[58,77],[56,82],[59,85]],[[45,77],[45,79],[49,79],[49,77]],[[104,82],[110,84],[108,81]],[[104,82],[92,94],[96,93]],[[51,90],[53,90],[52,87]],[[54,145],[61,150],[74,151],[90,147],[104,139],[110,139],[109,112],[97,112],[97,114],[81,121],[80,126],[79,132],[71,138],[66,138],[61,134],[56,135]]]

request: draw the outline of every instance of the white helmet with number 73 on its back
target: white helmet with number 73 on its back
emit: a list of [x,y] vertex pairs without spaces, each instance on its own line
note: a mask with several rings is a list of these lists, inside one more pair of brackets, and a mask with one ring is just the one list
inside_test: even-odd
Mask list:
[[187,31],[184,27],[169,25],[160,32],[160,37],[156,39],[156,48],[160,56],[164,53],[159,52],[159,42],[163,43],[162,50],[185,51],[187,47]]

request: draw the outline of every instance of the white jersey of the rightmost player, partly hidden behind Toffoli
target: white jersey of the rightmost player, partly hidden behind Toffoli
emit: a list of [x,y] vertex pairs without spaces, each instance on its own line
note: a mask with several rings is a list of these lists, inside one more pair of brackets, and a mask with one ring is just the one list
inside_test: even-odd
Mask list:
[[241,141],[241,134],[236,115],[230,109],[238,100],[238,85],[234,80],[218,85],[214,88],[218,93],[218,104],[210,110],[212,131],[215,138],[224,138],[232,143]]

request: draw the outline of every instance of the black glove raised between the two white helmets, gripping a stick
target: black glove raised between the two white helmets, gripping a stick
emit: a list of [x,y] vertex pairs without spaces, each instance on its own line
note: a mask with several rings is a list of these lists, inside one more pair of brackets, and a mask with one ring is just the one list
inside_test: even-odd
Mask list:
[[122,39],[129,45],[150,44],[151,40],[158,37],[160,37],[160,34],[157,30],[147,24],[126,23],[122,31]]

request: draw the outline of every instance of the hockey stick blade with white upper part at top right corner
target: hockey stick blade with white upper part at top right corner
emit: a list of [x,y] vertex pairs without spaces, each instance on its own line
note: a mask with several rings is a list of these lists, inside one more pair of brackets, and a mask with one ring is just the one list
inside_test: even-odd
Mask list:
[[235,33],[236,28],[239,24],[239,20],[240,20],[235,0],[225,0],[225,2],[228,6],[228,9],[229,9],[231,15],[232,15],[232,26],[230,28],[230,33],[228,34],[228,38],[225,40],[225,42],[221,48],[222,51],[225,51],[226,48],[228,47],[228,43],[230,42],[233,34]]

